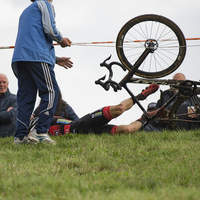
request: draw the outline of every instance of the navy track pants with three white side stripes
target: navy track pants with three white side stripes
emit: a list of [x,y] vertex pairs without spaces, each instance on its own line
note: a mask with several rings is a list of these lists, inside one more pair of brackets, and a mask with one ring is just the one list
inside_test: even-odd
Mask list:
[[28,135],[30,116],[34,110],[37,92],[41,98],[37,133],[46,133],[50,127],[59,96],[59,87],[53,66],[41,62],[17,62],[18,113],[16,137]]

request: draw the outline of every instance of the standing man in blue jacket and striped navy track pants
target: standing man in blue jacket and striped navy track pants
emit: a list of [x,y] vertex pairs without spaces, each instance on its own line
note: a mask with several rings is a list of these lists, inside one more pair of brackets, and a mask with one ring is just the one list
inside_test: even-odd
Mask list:
[[[31,0],[20,16],[18,34],[12,58],[12,68],[18,78],[17,130],[14,144],[56,144],[47,134],[52,121],[59,88],[55,78],[55,63],[71,68],[70,58],[55,56],[53,41],[61,47],[71,45],[56,27],[55,10],[51,0]],[[37,92],[41,98],[37,126],[28,135],[28,126]]]

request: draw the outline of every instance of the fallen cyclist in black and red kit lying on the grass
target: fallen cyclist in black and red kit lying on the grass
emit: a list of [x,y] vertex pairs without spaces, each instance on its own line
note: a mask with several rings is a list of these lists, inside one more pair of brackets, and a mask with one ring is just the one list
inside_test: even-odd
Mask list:
[[[143,92],[136,96],[138,100],[144,100],[148,95],[158,90],[158,85],[150,85]],[[60,116],[55,116],[51,127],[49,129],[50,135],[63,135],[67,133],[134,133],[139,130],[144,122],[147,121],[146,115],[143,115],[140,119],[130,123],[129,125],[111,125],[108,124],[110,120],[120,116],[123,112],[129,110],[135,102],[132,98],[122,101],[115,106],[106,106],[93,113],[89,113],[77,121],[71,121]],[[153,113],[155,113],[154,111]],[[34,130],[29,134],[29,140],[34,141],[35,137],[32,137]]]

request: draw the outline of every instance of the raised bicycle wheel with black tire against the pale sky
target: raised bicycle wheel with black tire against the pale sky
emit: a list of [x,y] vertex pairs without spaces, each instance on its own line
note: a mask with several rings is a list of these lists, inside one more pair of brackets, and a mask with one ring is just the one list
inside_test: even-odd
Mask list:
[[160,15],[141,15],[128,21],[119,31],[116,51],[121,63],[133,68],[145,48],[153,51],[143,61],[136,75],[159,78],[175,71],[186,53],[185,37],[171,20]]

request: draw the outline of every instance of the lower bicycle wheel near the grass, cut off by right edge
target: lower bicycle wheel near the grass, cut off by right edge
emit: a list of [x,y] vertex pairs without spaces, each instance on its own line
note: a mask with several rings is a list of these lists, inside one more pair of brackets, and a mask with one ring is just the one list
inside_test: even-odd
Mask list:
[[[194,95],[178,98],[169,113],[170,128],[172,130],[190,130],[200,125],[200,99]],[[189,110],[189,111],[188,111]]]

